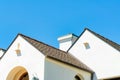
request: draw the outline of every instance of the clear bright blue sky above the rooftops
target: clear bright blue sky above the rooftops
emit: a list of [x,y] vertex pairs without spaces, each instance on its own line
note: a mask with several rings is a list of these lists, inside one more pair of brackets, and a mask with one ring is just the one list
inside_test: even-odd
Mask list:
[[18,33],[58,48],[59,36],[87,27],[120,43],[120,0],[0,0],[0,47]]

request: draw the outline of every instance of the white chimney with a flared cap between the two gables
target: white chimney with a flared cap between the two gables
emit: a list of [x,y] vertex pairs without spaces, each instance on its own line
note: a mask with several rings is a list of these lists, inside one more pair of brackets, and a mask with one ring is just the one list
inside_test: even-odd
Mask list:
[[74,34],[68,34],[58,38],[59,49],[67,51],[78,37]]

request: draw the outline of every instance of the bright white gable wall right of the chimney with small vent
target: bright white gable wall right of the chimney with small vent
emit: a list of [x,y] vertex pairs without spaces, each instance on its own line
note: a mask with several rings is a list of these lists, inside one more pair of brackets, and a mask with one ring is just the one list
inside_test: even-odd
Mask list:
[[[83,43],[89,43],[86,49]],[[120,77],[120,52],[103,42],[88,30],[78,39],[69,53],[93,69],[99,79]]]

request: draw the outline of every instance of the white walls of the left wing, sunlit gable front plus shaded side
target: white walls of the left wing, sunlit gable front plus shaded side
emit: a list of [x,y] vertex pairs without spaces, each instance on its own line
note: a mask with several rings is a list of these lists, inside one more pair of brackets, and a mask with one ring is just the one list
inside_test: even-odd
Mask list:
[[[81,80],[92,79],[92,73],[86,70],[47,58],[20,35],[0,60],[0,80],[13,80],[8,79],[8,75],[19,66],[26,69],[29,80],[33,80],[33,77],[39,80],[74,80],[76,75]],[[13,71],[13,75],[16,74],[18,73]]]

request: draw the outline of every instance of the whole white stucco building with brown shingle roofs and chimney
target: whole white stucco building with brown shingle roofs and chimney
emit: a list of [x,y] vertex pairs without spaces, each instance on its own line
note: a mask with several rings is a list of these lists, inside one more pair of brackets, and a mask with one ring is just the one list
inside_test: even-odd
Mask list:
[[58,38],[60,49],[18,34],[0,49],[0,80],[119,80],[120,45],[85,29]]

